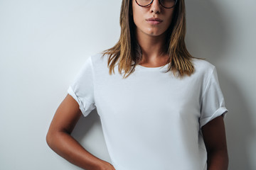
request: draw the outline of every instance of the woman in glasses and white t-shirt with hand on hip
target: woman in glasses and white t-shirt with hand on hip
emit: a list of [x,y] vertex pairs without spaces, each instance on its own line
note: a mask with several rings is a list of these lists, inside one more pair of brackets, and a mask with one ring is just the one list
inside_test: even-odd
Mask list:
[[[217,72],[186,50],[185,23],[183,0],[123,0],[120,39],[75,77],[50,124],[50,148],[87,170],[228,169]],[[70,136],[95,108],[112,164]]]

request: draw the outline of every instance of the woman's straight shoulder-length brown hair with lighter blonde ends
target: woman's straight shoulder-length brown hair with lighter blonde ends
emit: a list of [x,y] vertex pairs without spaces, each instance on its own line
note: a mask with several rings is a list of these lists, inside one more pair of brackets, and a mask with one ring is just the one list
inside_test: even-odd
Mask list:
[[[185,74],[190,76],[193,74],[194,67],[191,62],[191,54],[186,49],[186,11],[184,0],[178,0],[174,6],[174,16],[171,25],[166,30],[166,42],[164,52],[169,55],[169,66],[166,72],[173,72],[177,77],[182,78]],[[121,33],[119,41],[110,49],[102,52],[109,55],[107,67],[109,73],[114,73],[114,67],[118,64],[118,72],[121,74],[124,70],[124,79],[127,78],[136,65],[142,61],[142,49],[135,37],[135,24],[132,17],[132,0],[122,0],[119,23]],[[178,74],[177,74],[178,73]],[[127,76],[126,76],[127,74]]]

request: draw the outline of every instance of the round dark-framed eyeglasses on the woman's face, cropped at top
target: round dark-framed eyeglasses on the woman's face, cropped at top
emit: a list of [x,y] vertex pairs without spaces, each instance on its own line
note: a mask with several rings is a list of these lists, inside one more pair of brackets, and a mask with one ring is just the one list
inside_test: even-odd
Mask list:
[[[152,4],[154,0],[135,0],[139,6],[147,7]],[[178,0],[159,0],[159,3],[164,8],[174,8]]]

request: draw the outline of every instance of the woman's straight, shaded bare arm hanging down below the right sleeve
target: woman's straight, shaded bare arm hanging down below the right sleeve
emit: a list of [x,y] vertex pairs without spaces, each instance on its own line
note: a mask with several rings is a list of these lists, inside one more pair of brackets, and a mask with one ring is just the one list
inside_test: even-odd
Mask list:
[[207,150],[207,169],[228,170],[228,149],[223,115],[204,125],[202,133]]

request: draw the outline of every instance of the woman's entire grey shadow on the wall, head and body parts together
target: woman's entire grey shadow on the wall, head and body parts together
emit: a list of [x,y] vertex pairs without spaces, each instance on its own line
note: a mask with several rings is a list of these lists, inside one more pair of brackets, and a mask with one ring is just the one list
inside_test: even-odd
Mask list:
[[[228,49],[228,24],[221,11],[223,6],[216,1],[186,1],[187,34],[186,45],[191,55],[206,58],[218,67],[225,59]],[[233,170],[253,169],[250,167],[249,142],[253,134],[249,109],[245,97],[222,69],[218,69],[220,86],[225,98],[228,114],[225,118],[226,136],[228,142],[229,168]],[[251,113],[252,114],[252,113]],[[252,159],[251,159],[252,160]]]

